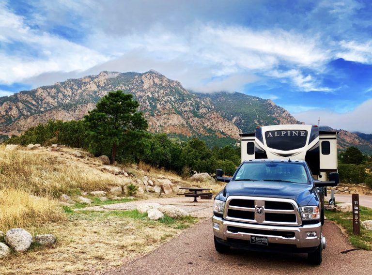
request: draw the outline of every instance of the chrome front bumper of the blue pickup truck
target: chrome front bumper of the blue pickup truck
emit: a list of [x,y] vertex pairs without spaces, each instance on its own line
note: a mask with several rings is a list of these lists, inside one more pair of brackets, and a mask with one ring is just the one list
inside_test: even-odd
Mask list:
[[[219,243],[249,250],[278,250],[290,252],[312,252],[324,243],[321,223],[302,226],[268,226],[224,220],[213,216],[213,233]],[[218,226],[215,226],[218,225]],[[219,228],[218,228],[219,227]],[[233,230],[232,230],[233,229]],[[308,237],[307,232],[315,231],[316,237]],[[263,233],[262,233],[263,232]],[[283,233],[281,236],[278,234]],[[250,236],[268,238],[268,245],[250,244]]]

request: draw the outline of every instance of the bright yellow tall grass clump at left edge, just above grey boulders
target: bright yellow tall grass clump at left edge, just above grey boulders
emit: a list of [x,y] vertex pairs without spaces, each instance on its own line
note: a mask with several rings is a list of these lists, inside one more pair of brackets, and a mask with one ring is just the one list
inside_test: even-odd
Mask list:
[[23,190],[0,190],[0,230],[39,227],[66,220],[56,200],[30,196]]

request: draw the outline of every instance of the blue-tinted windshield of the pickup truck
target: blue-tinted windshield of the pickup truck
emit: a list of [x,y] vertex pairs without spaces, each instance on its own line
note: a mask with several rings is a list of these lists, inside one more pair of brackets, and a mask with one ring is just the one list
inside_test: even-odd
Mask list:
[[309,178],[304,165],[301,163],[248,162],[239,168],[233,181],[309,183]]

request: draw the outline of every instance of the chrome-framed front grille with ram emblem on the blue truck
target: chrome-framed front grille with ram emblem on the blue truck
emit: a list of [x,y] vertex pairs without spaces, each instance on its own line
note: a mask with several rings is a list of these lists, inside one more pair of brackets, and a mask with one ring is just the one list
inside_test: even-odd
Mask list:
[[293,199],[230,196],[226,201],[224,218],[268,225],[301,224],[299,210]]

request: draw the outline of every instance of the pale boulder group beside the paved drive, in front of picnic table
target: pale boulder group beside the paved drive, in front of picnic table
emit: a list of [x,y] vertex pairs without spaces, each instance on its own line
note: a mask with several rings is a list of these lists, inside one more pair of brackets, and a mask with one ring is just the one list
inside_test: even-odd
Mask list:
[[147,213],[149,219],[158,220],[167,215],[171,218],[181,218],[188,216],[188,213],[174,205],[161,205],[159,203],[141,203],[137,206],[140,213]]

